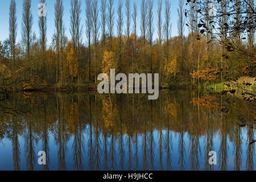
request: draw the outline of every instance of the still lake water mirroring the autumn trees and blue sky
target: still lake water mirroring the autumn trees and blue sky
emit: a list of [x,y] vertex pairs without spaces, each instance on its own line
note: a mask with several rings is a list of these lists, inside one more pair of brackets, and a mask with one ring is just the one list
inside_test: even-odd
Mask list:
[[255,119],[229,94],[17,93],[0,101],[0,170],[254,170]]

